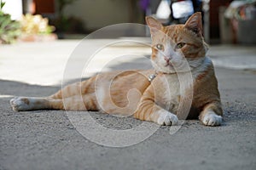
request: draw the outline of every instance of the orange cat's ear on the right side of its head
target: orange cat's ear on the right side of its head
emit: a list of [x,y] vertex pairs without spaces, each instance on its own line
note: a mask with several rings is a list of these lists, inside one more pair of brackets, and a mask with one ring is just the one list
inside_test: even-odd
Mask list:
[[194,31],[197,35],[202,36],[201,13],[192,14],[185,23],[185,28]]

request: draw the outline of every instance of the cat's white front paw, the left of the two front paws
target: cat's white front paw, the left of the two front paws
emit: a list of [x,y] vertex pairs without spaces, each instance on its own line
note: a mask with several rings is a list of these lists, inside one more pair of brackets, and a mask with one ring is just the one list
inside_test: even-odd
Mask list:
[[170,113],[169,111],[160,110],[158,111],[160,116],[158,117],[157,123],[160,125],[177,125],[177,116]]

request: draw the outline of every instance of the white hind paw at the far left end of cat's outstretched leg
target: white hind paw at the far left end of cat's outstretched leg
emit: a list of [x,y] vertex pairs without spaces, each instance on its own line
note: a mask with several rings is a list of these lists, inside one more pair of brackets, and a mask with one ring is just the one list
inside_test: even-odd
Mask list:
[[29,99],[14,98],[9,101],[14,111],[27,111],[30,108]]

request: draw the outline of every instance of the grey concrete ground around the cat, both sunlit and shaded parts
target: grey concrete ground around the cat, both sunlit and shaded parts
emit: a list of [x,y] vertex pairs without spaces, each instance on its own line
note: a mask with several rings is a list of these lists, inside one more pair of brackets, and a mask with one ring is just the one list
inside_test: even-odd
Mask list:
[[[255,47],[213,46],[208,53],[216,66],[224,106],[221,127],[191,120],[172,135],[170,127],[160,127],[139,144],[114,148],[84,138],[65,111],[11,110],[13,96],[55,93],[67,70],[73,71],[73,77],[68,75],[65,83],[102,70],[150,67],[148,46],[125,42],[102,48],[81,72],[76,65],[88,63],[90,56],[78,57],[79,50],[87,53],[84,47],[95,49],[109,42],[91,40],[81,47],[79,41],[0,46],[0,169],[256,168]],[[117,130],[141,123],[131,117],[90,115],[102,126]]]

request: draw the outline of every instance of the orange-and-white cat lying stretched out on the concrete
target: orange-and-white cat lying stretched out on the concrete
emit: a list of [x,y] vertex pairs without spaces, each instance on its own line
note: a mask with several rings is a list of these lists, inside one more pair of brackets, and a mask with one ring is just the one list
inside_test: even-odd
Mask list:
[[[192,14],[183,25],[163,26],[151,16],[146,17],[146,22],[154,69],[101,73],[49,97],[11,99],[12,109],[101,111],[132,115],[160,125],[176,125],[178,119],[198,117],[206,126],[221,125],[218,82],[212,61],[206,57],[208,46],[202,36],[201,13]],[[190,81],[186,75],[190,75]],[[189,100],[191,107],[186,114]]]

